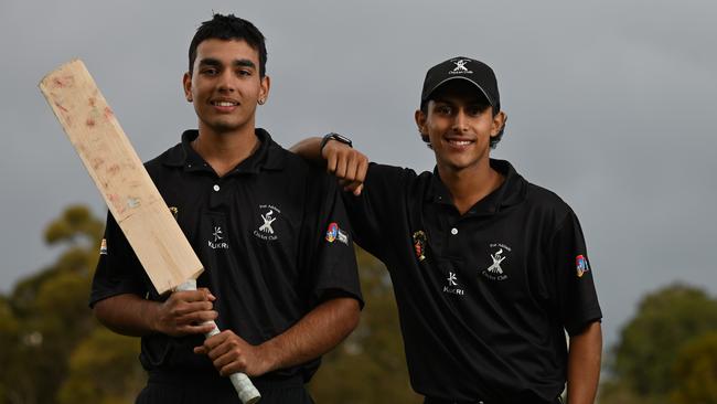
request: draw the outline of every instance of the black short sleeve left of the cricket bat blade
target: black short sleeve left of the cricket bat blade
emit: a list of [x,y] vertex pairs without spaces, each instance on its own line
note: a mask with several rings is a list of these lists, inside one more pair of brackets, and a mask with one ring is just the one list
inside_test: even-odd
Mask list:
[[148,279],[115,217],[111,213],[107,213],[107,226],[93,278],[89,307],[116,295],[145,296],[149,291]]

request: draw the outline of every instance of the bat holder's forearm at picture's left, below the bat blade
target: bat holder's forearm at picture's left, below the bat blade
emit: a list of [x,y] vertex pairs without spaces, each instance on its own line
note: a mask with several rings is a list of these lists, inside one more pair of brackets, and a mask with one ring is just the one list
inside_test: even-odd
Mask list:
[[154,320],[160,304],[137,295],[109,297],[95,305],[95,317],[105,327],[125,336],[141,337],[157,332]]

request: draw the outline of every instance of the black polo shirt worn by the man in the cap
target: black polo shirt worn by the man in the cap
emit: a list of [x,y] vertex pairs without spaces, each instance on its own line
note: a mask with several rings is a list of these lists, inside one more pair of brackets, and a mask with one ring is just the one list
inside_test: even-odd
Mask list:
[[565,331],[602,317],[578,219],[556,194],[491,160],[503,184],[461,215],[437,172],[371,164],[344,193],[356,243],[383,261],[411,385],[491,403],[552,402]]

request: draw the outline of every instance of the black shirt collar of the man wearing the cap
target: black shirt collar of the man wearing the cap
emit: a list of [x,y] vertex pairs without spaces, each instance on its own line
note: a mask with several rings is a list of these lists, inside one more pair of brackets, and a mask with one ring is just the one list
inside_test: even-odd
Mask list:
[[[468,211],[469,214],[497,213],[502,209],[515,205],[525,200],[527,191],[525,179],[515,171],[510,162],[497,159],[491,159],[490,161],[491,168],[501,173],[505,180],[495,191],[491,192],[471,206]],[[438,174],[438,167],[434,169],[434,176],[431,176],[431,183],[429,191],[426,194],[426,199],[434,203],[453,204],[448,188]]]

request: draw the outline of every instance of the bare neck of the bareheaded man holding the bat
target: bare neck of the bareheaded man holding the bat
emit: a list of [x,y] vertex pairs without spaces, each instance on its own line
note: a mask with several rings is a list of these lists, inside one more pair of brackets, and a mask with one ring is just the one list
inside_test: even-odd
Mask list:
[[259,147],[259,139],[250,130],[217,132],[207,130],[200,123],[200,135],[192,141],[192,148],[223,177],[238,163],[246,160]]

